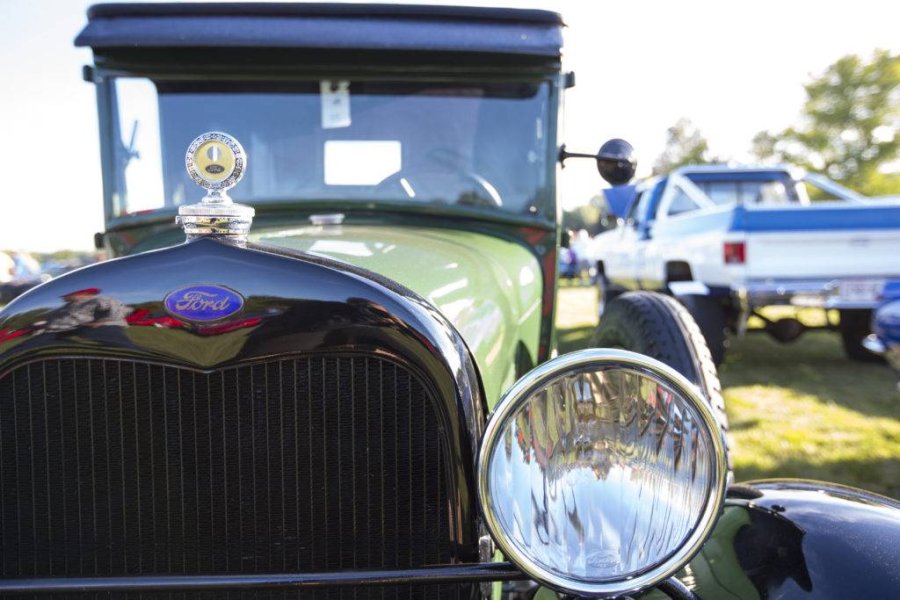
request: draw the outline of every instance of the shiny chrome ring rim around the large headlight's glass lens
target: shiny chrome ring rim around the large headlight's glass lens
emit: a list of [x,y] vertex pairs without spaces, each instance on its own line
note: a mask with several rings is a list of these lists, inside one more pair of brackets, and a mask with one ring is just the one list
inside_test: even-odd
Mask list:
[[[672,390],[691,402],[706,426],[712,443],[714,454],[710,495],[703,508],[697,525],[685,543],[668,558],[657,565],[651,565],[637,575],[629,575],[617,580],[585,581],[578,578],[566,578],[552,572],[529,559],[519,550],[503,532],[494,512],[491,495],[488,490],[488,466],[491,453],[504,425],[510,416],[515,415],[522,403],[540,387],[567,373],[582,371],[586,368],[615,369],[625,368],[646,373],[659,380]],[[683,375],[658,360],[627,350],[590,349],[573,352],[555,358],[533,369],[503,395],[496,409],[488,420],[478,453],[478,499],[488,530],[497,542],[503,554],[523,573],[532,579],[561,592],[580,595],[618,596],[636,593],[647,589],[677,573],[700,550],[709,538],[718,519],[725,498],[725,477],[727,472],[725,444],[722,430],[712,411],[704,401],[700,390]]]

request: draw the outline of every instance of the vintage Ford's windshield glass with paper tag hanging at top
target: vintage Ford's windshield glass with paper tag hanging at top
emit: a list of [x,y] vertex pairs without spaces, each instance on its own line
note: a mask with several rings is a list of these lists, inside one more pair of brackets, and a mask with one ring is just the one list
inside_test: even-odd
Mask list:
[[[237,137],[253,205],[350,201],[536,212],[548,194],[546,83],[323,80],[113,84],[112,215],[197,202],[184,167],[207,131]],[[543,212],[543,211],[542,211]]]

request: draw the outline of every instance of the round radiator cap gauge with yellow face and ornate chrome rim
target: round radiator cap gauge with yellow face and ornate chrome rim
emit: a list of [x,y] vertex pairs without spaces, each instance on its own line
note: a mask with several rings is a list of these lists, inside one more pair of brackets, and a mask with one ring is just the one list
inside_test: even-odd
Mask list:
[[234,137],[211,131],[188,146],[185,166],[191,179],[207,190],[227,190],[244,175],[247,155]]

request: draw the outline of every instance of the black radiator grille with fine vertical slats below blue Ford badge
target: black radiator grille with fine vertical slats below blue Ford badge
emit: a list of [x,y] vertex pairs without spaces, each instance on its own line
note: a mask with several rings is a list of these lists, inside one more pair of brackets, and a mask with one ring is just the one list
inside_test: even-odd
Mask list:
[[[33,362],[0,379],[0,577],[449,563],[442,435],[426,386],[374,355],[213,373],[96,358]],[[448,585],[227,597],[476,592]],[[34,598],[113,596],[226,595]]]

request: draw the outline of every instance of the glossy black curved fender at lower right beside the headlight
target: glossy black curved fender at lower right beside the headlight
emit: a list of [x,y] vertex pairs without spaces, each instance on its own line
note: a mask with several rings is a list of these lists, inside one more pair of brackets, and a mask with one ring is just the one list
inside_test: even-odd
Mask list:
[[679,578],[700,598],[900,597],[900,503],[814,481],[733,486]]

